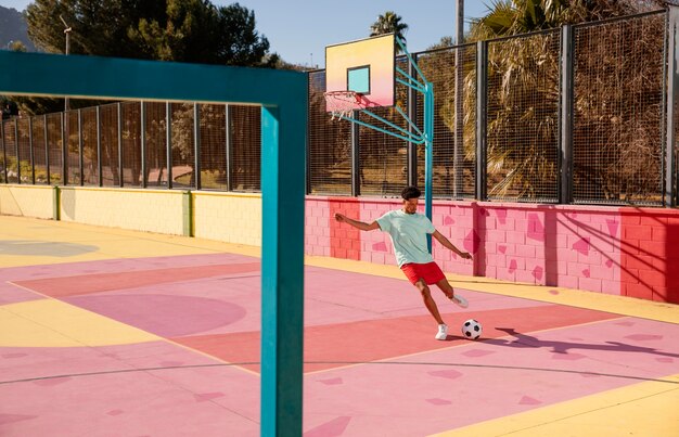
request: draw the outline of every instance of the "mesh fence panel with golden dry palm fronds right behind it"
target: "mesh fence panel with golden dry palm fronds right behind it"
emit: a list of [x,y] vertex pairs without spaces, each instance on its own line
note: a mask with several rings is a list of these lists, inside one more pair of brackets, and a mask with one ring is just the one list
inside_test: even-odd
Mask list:
[[559,30],[488,42],[490,200],[559,200]]

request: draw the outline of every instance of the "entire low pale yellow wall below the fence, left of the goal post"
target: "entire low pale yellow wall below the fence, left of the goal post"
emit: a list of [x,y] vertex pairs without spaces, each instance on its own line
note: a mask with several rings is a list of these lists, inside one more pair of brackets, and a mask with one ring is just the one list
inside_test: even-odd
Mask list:
[[[0,214],[53,218],[52,187],[0,185]],[[184,192],[61,187],[60,219],[171,235],[184,234]],[[192,192],[192,234],[261,245],[261,195]]]

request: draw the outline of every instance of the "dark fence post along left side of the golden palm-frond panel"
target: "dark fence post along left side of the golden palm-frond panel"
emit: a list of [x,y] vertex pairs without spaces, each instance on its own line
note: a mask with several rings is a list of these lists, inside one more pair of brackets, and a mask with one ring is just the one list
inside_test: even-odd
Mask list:
[[487,196],[487,93],[488,83],[488,42],[476,42],[476,200]]

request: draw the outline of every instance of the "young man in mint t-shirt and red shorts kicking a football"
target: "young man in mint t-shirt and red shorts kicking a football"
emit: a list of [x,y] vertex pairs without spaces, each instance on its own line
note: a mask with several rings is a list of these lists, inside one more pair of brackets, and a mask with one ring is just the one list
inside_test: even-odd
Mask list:
[[335,220],[345,222],[361,231],[381,229],[387,232],[394,244],[396,262],[406,273],[410,282],[420,291],[424,306],[438,323],[436,339],[446,339],[448,326],[438,312],[438,307],[432,298],[430,285],[436,284],[444,294],[462,308],[467,307],[466,299],[457,295],[448,283],[446,275],[430,254],[426,244],[426,234],[432,234],[444,247],[454,252],[463,259],[472,259],[472,255],[458,249],[440,232],[434,228],[432,221],[418,213],[418,201],[422,193],[417,187],[406,187],[401,191],[403,207],[386,213],[377,220],[368,224],[350,219],[342,214],[335,214]]

